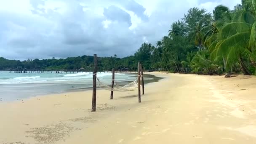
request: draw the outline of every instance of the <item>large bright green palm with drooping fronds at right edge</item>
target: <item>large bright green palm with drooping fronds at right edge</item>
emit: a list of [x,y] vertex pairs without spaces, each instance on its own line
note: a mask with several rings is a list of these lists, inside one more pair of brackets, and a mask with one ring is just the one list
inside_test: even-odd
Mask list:
[[[256,12],[256,0],[252,0],[252,7]],[[247,8],[247,7],[246,7]],[[245,59],[256,61],[256,16],[247,9],[237,11],[233,21],[225,24],[218,35],[219,42],[213,53],[224,56],[227,66],[238,61],[243,74],[251,72],[245,64]]]

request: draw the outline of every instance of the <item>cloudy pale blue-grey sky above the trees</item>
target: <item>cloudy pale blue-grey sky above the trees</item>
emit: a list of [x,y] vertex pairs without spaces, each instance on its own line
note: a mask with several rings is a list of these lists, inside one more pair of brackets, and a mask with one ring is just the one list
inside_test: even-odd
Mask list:
[[0,0],[0,57],[132,55],[155,44],[192,7],[240,0]]

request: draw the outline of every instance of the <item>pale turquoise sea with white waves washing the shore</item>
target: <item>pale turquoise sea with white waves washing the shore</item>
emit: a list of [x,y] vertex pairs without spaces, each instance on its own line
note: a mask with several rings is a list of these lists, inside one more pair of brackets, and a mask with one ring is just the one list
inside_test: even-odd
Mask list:
[[[50,93],[84,91],[92,87],[92,77],[93,75],[88,72],[18,74],[0,71],[0,101],[26,99]],[[111,73],[101,72],[97,77],[103,83],[111,84]],[[115,74],[115,80],[121,84],[135,79],[136,75],[133,74]],[[152,78],[145,77],[145,80],[152,80]]]

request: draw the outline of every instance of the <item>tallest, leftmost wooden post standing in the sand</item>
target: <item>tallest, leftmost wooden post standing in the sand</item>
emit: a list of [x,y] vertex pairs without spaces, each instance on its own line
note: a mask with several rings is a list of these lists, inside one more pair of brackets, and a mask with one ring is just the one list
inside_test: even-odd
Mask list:
[[94,70],[93,70],[93,99],[92,99],[92,105],[91,105],[91,111],[96,111],[96,75],[97,75],[97,55],[93,54],[94,57]]

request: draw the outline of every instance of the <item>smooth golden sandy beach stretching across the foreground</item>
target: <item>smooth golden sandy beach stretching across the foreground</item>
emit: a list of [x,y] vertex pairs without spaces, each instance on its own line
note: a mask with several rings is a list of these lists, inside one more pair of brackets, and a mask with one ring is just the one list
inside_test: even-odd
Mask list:
[[168,74],[137,91],[97,90],[0,103],[0,144],[253,144],[256,77]]

